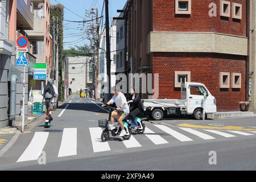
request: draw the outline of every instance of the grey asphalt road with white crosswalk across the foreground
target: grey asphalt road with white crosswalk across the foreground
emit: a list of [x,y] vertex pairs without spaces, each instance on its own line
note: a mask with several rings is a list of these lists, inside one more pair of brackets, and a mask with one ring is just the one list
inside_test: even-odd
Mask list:
[[146,122],[145,134],[104,143],[98,119],[108,114],[100,104],[72,96],[53,118],[49,129],[44,118],[28,126],[0,157],[0,170],[256,169],[255,118]]

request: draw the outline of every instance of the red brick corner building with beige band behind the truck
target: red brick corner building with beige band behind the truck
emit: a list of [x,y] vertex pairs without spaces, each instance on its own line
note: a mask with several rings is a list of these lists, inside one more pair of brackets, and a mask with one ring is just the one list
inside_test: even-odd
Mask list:
[[238,111],[247,93],[247,6],[246,0],[128,1],[126,64],[133,73],[159,73],[159,98],[179,98],[179,80],[186,78],[207,86],[218,111]]

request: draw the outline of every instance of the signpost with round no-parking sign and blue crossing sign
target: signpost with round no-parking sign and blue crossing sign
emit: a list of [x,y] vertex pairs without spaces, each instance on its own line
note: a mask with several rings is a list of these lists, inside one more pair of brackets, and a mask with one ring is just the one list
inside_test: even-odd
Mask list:
[[22,96],[22,133],[24,132],[24,119],[25,119],[25,85],[26,85],[26,67],[27,67],[27,60],[26,60],[26,52],[27,52],[27,44],[28,40],[25,36],[19,36],[16,40],[17,43],[17,50],[21,49],[18,59],[16,60],[17,67],[23,67],[23,96]]

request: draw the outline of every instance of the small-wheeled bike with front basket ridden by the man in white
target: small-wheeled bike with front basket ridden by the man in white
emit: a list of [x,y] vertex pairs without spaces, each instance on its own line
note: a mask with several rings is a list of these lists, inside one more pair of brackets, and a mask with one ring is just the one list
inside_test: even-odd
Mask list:
[[[108,120],[107,119],[98,120],[98,126],[105,128],[104,131],[102,131],[102,133],[101,133],[102,142],[106,142],[107,140],[109,140],[110,132],[112,134],[112,137],[115,137],[121,133],[121,127],[120,127],[119,123],[118,123],[118,125],[115,126],[115,129],[109,130],[111,114],[115,110],[115,108],[111,107],[111,106],[106,106],[105,108],[109,110],[109,119]],[[126,134],[122,138],[124,140],[129,140],[131,137],[131,127],[129,127],[129,124],[127,123],[126,119],[123,120],[123,125],[125,126]]]

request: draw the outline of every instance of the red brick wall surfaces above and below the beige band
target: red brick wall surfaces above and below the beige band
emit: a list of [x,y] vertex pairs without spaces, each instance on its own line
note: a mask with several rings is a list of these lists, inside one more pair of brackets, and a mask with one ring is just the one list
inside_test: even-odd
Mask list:
[[[230,1],[230,18],[221,18],[220,1],[192,0],[191,15],[175,15],[174,0],[153,1],[153,31],[217,32],[246,36],[246,1]],[[209,4],[217,5],[217,16],[209,16]],[[242,4],[242,19],[232,18],[232,2]],[[159,73],[159,98],[180,98],[175,71],[191,71],[191,81],[207,86],[217,100],[217,111],[238,111],[246,100],[246,56],[222,53],[151,52],[152,73]],[[230,88],[220,89],[220,72],[230,73]],[[242,74],[242,88],[232,89],[232,73]],[[154,85],[154,81],[153,81]]]

